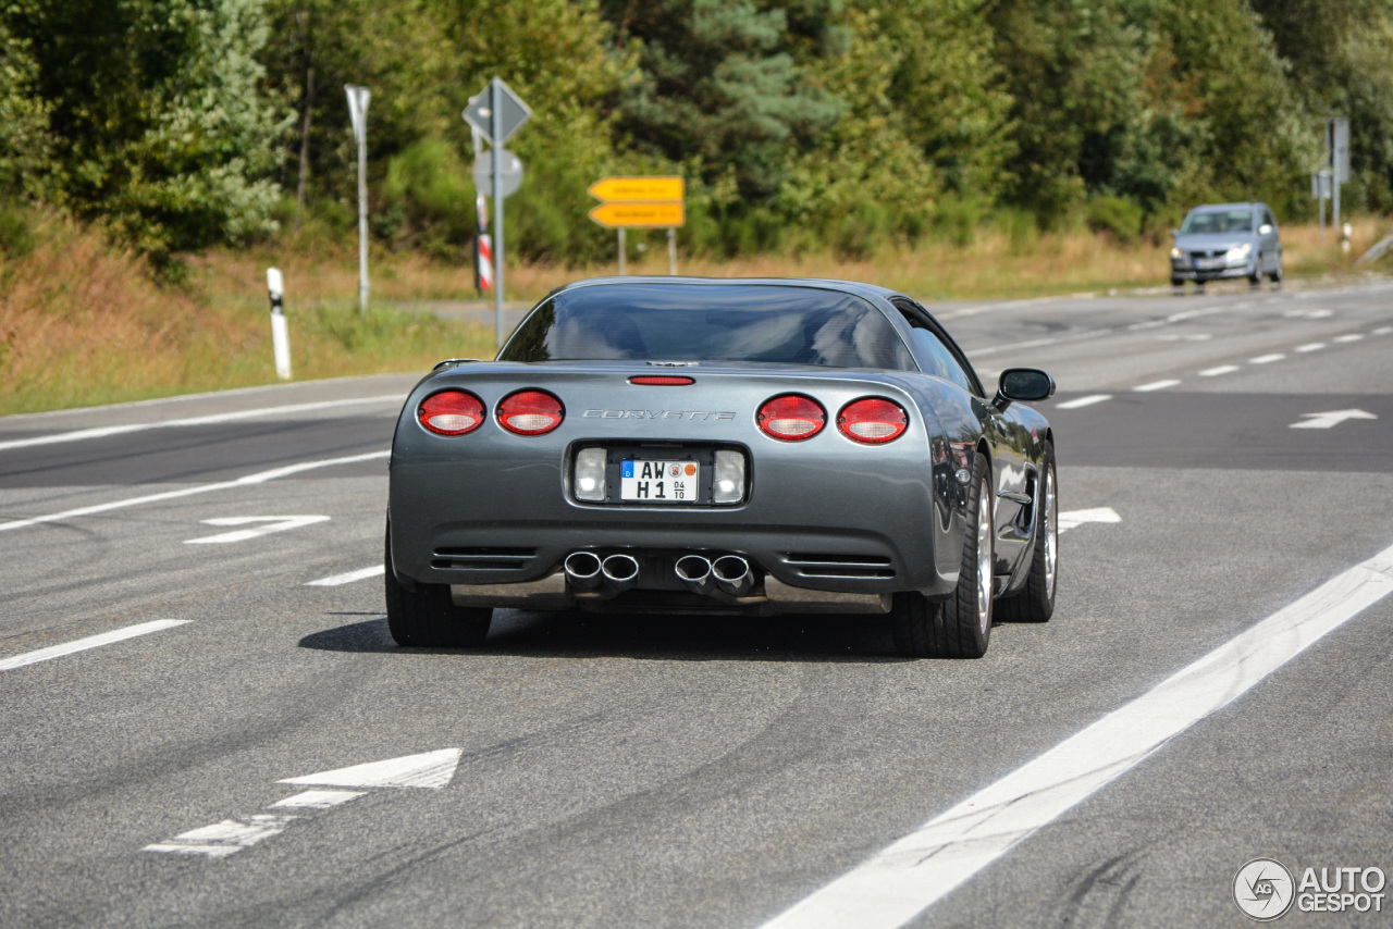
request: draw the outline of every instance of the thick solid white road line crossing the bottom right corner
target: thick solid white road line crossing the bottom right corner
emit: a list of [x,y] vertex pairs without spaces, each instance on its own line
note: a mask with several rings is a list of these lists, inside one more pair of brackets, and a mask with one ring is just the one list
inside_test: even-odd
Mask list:
[[935,816],[763,929],[893,929],[1361,610],[1393,593],[1393,547],[1326,581],[995,784]]

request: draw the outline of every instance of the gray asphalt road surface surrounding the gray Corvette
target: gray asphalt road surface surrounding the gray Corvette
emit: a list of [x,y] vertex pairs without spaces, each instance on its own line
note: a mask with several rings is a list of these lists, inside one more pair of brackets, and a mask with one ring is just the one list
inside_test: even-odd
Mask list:
[[[1127,708],[1245,631],[1287,648],[1258,624],[1393,546],[1393,284],[935,309],[989,376],[1055,375],[1078,514],[1053,621],[978,662],[836,617],[396,648],[371,571],[412,377],[0,419],[0,926],[885,925],[826,901],[979,791],[1028,809],[1100,720],[1149,731]],[[1393,872],[1393,596],[1302,643],[946,891],[890,868],[869,904],[1244,926],[1250,859]]]

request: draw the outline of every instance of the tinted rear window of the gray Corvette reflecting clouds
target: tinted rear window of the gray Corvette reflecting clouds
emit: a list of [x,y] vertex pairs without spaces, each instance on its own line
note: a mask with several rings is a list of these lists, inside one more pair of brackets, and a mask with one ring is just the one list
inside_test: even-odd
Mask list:
[[563,291],[522,320],[500,361],[754,361],[912,369],[859,297],[814,287],[613,284]]

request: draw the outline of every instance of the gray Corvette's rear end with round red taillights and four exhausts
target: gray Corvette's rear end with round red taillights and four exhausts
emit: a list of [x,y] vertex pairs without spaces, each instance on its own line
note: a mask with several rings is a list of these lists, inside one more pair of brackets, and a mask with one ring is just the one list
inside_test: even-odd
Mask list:
[[943,436],[880,372],[454,365],[408,398],[390,475],[397,577],[458,606],[886,611],[951,589]]

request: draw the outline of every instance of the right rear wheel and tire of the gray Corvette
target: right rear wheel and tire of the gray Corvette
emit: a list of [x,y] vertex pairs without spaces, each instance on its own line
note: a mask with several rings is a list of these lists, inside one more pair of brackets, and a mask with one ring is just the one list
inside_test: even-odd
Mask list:
[[[972,461],[967,539],[957,589],[946,600],[910,591],[890,610],[894,649],[905,657],[982,657],[992,637],[992,489],[986,455]],[[982,545],[986,546],[985,553]],[[979,557],[983,554],[985,557]],[[983,578],[985,571],[985,578]],[[983,588],[985,584],[985,588]]]

